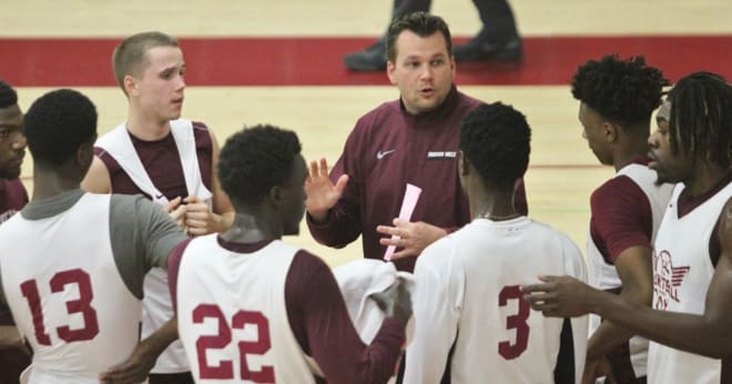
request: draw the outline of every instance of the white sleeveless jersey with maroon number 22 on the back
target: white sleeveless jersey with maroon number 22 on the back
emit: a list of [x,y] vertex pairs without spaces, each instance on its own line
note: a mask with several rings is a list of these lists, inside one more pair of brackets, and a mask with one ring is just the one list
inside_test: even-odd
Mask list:
[[273,241],[250,254],[192,240],[177,275],[179,334],[196,383],[314,383],[289,327],[285,281],[299,250]]

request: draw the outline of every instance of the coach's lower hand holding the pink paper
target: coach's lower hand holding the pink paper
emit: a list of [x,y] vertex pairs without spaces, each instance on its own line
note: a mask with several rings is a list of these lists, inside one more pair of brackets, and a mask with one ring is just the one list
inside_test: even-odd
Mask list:
[[447,231],[439,226],[427,224],[423,221],[408,222],[401,219],[394,219],[394,226],[378,225],[378,233],[387,234],[390,238],[382,238],[382,245],[394,245],[399,252],[392,255],[392,260],[407,256],[417,256],[429,244],[447,235]]

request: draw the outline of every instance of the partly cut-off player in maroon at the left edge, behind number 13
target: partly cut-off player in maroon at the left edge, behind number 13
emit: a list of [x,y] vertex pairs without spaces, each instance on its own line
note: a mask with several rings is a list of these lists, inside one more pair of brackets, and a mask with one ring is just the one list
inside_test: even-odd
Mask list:
[[[23,113],[18,94],[0,80],[0,225],[28,203],[28,193],[18,176],[26,155]],[[18,383],[30,356],[18,346],[22,340],[12,315],[0,307],[0,384]]]

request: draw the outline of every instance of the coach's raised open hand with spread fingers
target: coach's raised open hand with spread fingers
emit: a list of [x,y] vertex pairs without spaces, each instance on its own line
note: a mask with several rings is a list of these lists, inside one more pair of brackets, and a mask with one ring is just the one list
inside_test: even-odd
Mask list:
[[338,178],[335,185],[333,184],[328,178],[328,163],[325,159],[321,159],[319,164],[317,161],[311,161],[311,173],[305,180],[307,194],[305,208],[316,223],[325,222],[328,211],[338,202],[347,184],[347,174]]

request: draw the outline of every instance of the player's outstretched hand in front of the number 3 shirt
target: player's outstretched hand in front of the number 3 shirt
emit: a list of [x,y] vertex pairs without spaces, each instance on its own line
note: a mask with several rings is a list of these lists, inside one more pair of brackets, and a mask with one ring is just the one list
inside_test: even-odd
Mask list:
[[570,276],[539,276],[542,284],[521,286],[531,309],[549,317],[578,317],[590,312],[596,290]]

